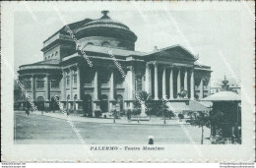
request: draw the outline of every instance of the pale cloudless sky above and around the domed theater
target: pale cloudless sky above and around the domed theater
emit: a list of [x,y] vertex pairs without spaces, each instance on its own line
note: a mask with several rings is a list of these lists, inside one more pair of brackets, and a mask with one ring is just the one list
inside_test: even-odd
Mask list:
[[[29,12],[16,12],[15,70],[19,66],[42,61],[42,42],[63,27],[54,10],[33,12],[38,22],[34,22]],[[66,23],[71,24],[86,18],[99,19],[100,11],[62,12]],[[182,45],[199,55],[203,65],[211,66],[212,79],[231,77],[224,59],[240,79],[241,57],[241,17],[235,11],[109,11],[108,16],[128,26],[138,36],[135,50],[149,52],[154,46],[164,48]]]

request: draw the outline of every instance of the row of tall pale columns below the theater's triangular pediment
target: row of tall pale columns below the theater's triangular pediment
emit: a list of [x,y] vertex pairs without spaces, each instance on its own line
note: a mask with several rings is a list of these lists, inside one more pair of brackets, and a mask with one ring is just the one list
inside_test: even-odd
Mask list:
[[[159,100],[163,97],[169,100],[176,98],[194,98],[193,73],[193,67],[189,65],[177,66],[173,64],[147,63],[145,91],[154,95],[153,98],[155,100]],[[154,87],[152,87],[152,85],[154,85]],[[179,93],[181,89],[188,91],[189,97],[188,95],[185,97],[178,96],[177,93]]]

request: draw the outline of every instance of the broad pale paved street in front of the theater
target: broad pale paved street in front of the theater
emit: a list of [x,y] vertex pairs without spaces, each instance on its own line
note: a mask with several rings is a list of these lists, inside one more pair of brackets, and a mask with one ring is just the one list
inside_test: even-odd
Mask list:
[[[155,137],[155,144],[190,143],[179,125],[73,123],[86,143],[91,144],[147,144],[150,135]],[[200,143],[201,129],[188,125],[184,127],[189,131],[193,140]],[[205,129],[205,137],[209,137],[209,132],[209,129]],[[15,112],[14,139],[16,143],[80,143],[77,135],[65,120],[38,114],[28,117],[24,111]]]

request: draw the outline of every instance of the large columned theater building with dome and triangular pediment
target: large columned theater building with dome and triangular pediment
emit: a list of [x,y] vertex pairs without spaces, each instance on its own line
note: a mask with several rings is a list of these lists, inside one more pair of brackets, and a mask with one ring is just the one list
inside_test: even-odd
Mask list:
[[[107,13],[60,28],[43,41],[43,61],[20,66],[19,79],[39,110],[58,109],[54,96],[71,111],[93,114],[116,104],[132,109],[143,90],[173,102],[210,94],[210,67],[180,45],[135,51],[136,34]],[[182,90],[187,95],[179,97]],[[28,104],[25,96],[20,104]]]

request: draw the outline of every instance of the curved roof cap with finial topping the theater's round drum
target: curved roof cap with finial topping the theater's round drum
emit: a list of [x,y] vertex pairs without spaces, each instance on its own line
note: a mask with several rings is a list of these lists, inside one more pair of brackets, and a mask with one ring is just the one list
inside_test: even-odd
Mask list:
[[137,36],[124,24],[113,21],[107,16],[108,11],[101,12],[103,16],[100,19],[91,21],[76,31],[78,38],[85,36],[115,36],[126,38],[135,42]]

